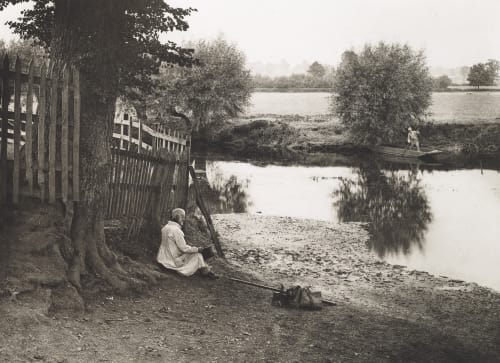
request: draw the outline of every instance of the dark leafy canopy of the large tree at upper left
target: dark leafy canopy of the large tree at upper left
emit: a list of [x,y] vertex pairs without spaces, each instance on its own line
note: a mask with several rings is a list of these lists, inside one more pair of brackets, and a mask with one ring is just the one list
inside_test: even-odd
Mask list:
[[[0,0],[0,10],[8,4],[27,2],[27,0]],[[67,10],[72,9],[71,16]],[[103,19],[96,16],[104,9],[111,17]],[[160,34],[174,30],[187,30],[184,20],[194,9],[175,8],[163,0],[38,0],[33,8],[26,9],[17,21],[8,24],[23,39],[31,39],[37,45],[54,54],[56,47],[63,47],[65,57],[80,66],[84,72],[96,74],[104,65],[96,65],[94,60],[102,53],[109,54],[109,61],[115,63],[119,76],[119,90],[129,96],[151,90],[151,74],[158,73],[162,62],[189,65],[192,50],[167,41],[160,42]],[[103,21],[109,22],[103,23]],[[70,41],[58,35],[58,28],[78,30],[78,41]],[[112,30],[112,31],[110,31]],[[106,32],[109,32],[106,34]],[[102,48],[102,37],[111,38],[118,34],[113,44]],[[58,38],[58,39],[56,39]],[[60,44],[64,40],[64,44]],[[101,44],[100,44],[101,43]]]

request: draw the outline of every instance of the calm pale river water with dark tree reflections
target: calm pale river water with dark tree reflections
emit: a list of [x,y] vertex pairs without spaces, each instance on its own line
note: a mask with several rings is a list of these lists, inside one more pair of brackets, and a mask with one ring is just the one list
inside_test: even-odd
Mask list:
[[500,291],[500,173],[207,162],[213,212],[370,223],[390,263]]

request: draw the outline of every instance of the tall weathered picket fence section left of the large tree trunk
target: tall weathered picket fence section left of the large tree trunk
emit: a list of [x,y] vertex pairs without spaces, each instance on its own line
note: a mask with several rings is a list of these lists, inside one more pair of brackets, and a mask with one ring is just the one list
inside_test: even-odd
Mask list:
[[20,195],[79,200],[79,72],[69,65],[24,65],[3,57],[0,203]]

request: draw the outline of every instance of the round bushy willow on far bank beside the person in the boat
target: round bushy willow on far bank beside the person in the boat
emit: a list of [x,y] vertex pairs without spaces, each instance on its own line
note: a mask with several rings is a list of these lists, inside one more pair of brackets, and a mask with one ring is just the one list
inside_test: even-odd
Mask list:
[[407,45],[366,45],[359,54],[343,54],[332,110],[356,142],[395,142],[406,126],[423,120],[431,91],[422,52]]

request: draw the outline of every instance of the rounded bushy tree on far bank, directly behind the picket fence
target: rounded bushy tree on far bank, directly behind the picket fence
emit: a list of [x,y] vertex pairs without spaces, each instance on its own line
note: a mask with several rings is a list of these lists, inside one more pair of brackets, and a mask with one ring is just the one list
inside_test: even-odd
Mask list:
[[223,38],[190,46],[197,64],[162,68],[156,82],[158,106],[163,110],[177,106],[191,116],[196,128],[243,112],[253,88],[244,54]]

